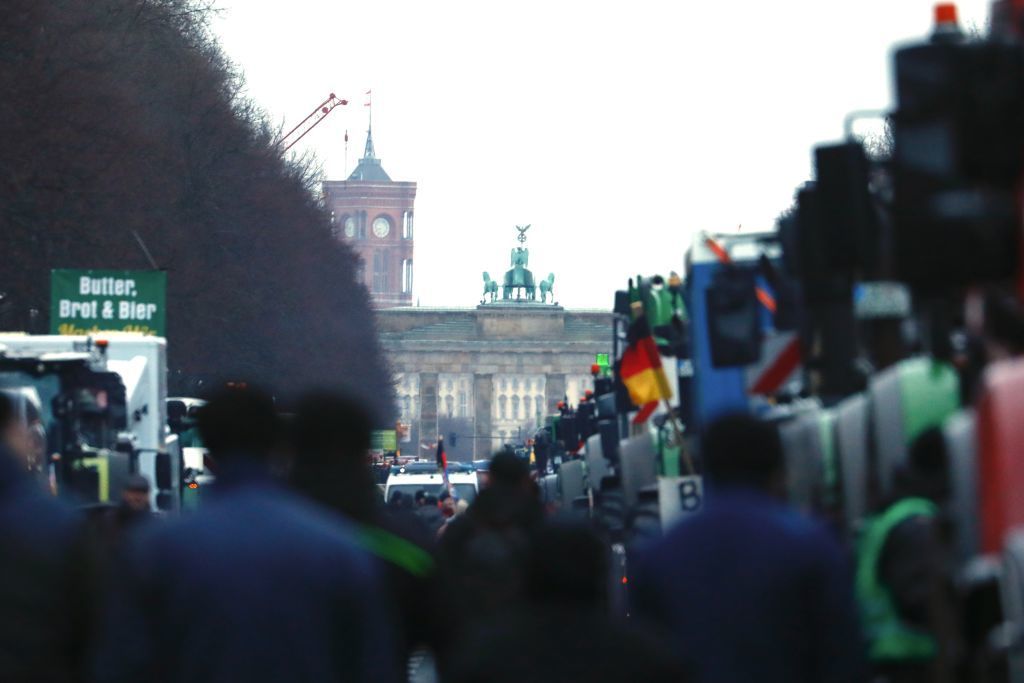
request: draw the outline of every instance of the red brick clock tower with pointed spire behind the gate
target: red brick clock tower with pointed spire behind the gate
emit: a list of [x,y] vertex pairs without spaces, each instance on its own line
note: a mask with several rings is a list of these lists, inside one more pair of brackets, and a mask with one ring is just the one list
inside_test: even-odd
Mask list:
[[413,305],[413,203],[415,182],[396,182],[374,153],[373,128],[367,147],[347,180],[328,180],[324,197],[334,233],[362,259],[356,279],[377,308]]

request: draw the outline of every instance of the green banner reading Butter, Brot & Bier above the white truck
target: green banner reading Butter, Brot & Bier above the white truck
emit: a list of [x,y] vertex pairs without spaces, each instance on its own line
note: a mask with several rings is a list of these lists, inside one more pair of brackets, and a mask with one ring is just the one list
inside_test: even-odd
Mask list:
[[50,334],[167,334],[167,273],[161,270],[51,270]]

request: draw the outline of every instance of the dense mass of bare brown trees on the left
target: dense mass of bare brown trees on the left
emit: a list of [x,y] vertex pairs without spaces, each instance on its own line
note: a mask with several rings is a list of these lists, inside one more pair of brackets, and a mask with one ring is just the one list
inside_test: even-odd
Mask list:
[[382,420],[392,387],[315,160],[287,162],[211,37],[207,0],[6,0],[0,328],[48,311],[54,267],[168,271],[175,390],[330,384]]

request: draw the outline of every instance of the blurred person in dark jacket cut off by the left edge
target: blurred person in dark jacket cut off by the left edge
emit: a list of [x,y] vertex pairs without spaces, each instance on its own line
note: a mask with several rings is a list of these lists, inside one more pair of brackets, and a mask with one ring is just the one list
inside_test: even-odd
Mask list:
[[82,680],[88,553],[77,515],[30,474],[30,444],[0,392],[0,681]]

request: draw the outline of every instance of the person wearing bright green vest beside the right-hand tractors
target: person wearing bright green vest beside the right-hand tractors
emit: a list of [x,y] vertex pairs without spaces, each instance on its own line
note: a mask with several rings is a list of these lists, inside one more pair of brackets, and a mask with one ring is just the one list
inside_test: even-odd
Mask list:
[[874,680],[951,680],[940,513],[948,490],[944,438],[932,428],[915,439],[889,504],[861,532],[855,581]]

